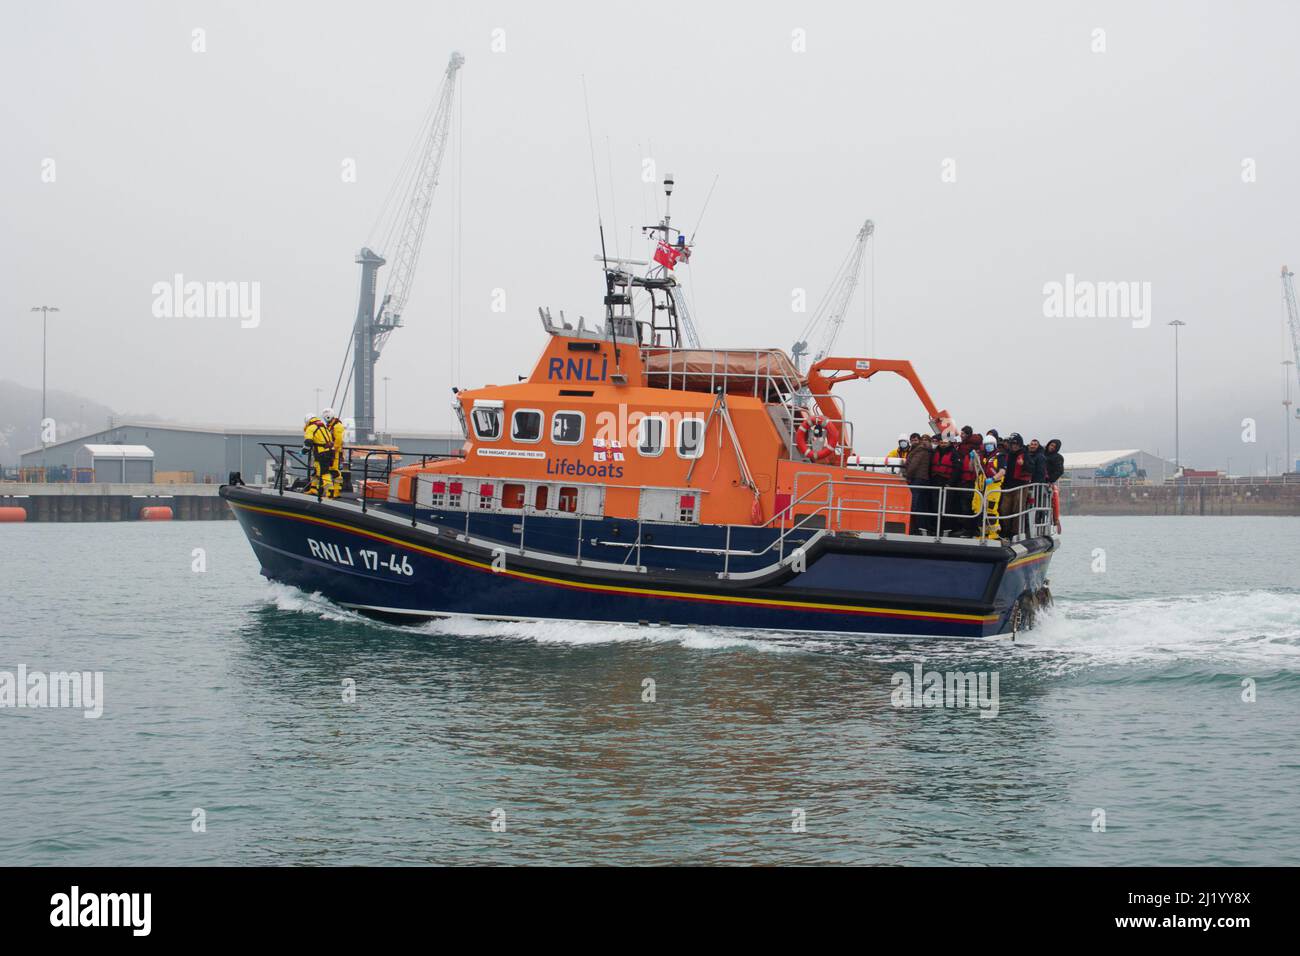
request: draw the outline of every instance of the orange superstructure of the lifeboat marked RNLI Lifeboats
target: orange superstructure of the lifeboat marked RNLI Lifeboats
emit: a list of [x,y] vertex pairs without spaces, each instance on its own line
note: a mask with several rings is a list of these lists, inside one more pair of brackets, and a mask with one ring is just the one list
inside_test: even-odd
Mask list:
[[[523,511],[526,502],[529,511],[767,524],[842,505],[842,529],[906,528],[906,484],[846,464],[852,424],[831,386],[898,372],[931,418],[945,421],[909,363],[833,359],[801,378],[780,350],[647,346],[634,326],[628,341],[555,328],[545,316],[543,324],[550,341],[528,380],[459,392],[463,458],[396,470],[399,499],[411,499],[419,476],[429,496],[478,496],[485,510]],[[850,375],[823,375],[841,365]],[[809,392],[823,415],[841,421],[828,462],[802,457],[794,441]],[[836,486],[837,499],[810,497],[816,485],[829,488],[827,479],[846,483]],[[859,483],[861,494],[852,493]]]

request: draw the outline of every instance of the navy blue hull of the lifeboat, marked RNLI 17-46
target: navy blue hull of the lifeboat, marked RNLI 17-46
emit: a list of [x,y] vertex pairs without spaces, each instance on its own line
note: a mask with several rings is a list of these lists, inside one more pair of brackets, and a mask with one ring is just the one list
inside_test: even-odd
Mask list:
[[[662,550],[646,546],[638,555],[646,570],[637,571],[603,554],[590,557],[601,546],[629,557],[627,545],[618,550],[608,542],[618,532],[607,522],[589,520],[578,532],[590,542],[578,562],[567,549],[532,550],[533,538],[546,535],[546,525],[532,516],[530,550],[521,555],[508,542],[478,537],[476,528],[463,540],[432,514],[412,527],[408,518],[382,509],[361,514],[352,503],[295,494],[222,488],[222,497],[266,578],[399,620],[465,614],[978,637],[1010,630],[1017,600],[1043,588],[1054,548],[1050,538],[1013,549],[822,536],[806,545],[800,568],[771,553],[737,557],[732,576],[719,578],[716,571],[667,566],[722,561],[706,551],[690,551],[684,561],[688,553],[670,544],[675,532],[699,528],[656,525]],[[556,525],[562,529],[576,524],[552,520],[566,523]]]

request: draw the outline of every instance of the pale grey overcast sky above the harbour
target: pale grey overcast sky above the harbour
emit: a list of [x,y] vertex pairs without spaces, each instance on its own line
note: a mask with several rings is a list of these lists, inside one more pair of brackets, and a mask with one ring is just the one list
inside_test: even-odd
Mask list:
[[[720,177],[682,271],[707,343],[788,349],[806,317],[792,290],[815,303],[871,217],[875,351],[910,358],[959,423],[1171,457],[1166,323],[1182,319],[1184,460],[1245,471],[1282,454],[1295,4],[48,3],[5,17],[0,378],[39,386],[27,310],[44,302],[62,308],[51,388],[126,414],[300,421],[333,386],[352,256],[456,48],[464,135],[378,372],[394,428],[446,428],[448,385],[528,372],[538,304],[599,315],[585,74],[611,247],[615,221],[625,248],[654,216],[644,156],[675,173],[684,225]],[[191,52],[196,27],[207,52]],[[153,317],[151,289],[174,273],[260,282],[260,326]],[[1150,282],[1150,326],[1044,317],[1044,284],[1067,273]],[[859,293],[838,352],[864,354],[866,315]],[[901,384],[845,394],[864,449],[922,424]],[[1257,444],[1240,440],[1245,418]]]

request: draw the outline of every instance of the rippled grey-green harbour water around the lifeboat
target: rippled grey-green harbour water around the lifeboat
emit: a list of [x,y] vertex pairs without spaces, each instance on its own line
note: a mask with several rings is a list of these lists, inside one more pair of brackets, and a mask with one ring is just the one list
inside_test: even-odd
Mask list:
[[0,541],[0,682],[51,679],[0,695],[5,864],[1300,864],[1300,519],[1067,519],[1014,644],[396,627],[233,522]]

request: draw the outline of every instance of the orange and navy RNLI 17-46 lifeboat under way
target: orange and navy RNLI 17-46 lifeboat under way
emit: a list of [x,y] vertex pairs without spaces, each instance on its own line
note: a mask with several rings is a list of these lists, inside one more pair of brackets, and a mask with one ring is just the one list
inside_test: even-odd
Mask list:
[[667,221],[658,229],[654,263],[601,261],[602,321],[540,310],[543,347],[525,381],[456,392],[459,455],[389,453],[385,467],[367,450],[352,462],[359,490],[337,499],[294,490],[287,463],[265,486],[222,486],[263,574],[399,622],[940,637],[1028,627],[1057,546],[1049,489],[1002,514],[1015,533],[998,538],[954,533],[988,522],[971,489],[915,512],[893,463],[855,453],[833,394],[898,375],[933,432],[952,429],[911,364],[832,356],[801,373],[780,349],[701,347],[672,271],[689,247]]

